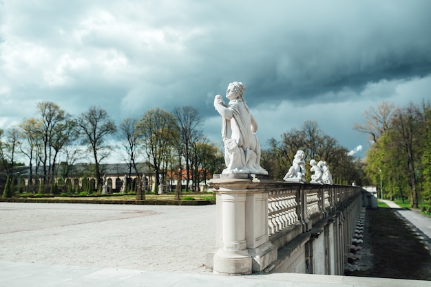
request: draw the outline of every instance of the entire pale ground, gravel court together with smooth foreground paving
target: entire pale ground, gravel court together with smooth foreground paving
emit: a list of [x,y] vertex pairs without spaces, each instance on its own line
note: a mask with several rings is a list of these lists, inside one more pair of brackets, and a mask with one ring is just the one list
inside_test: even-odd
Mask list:
[[431,286],[431,282],[204,268],[215,206],[0,203],[0,286]]

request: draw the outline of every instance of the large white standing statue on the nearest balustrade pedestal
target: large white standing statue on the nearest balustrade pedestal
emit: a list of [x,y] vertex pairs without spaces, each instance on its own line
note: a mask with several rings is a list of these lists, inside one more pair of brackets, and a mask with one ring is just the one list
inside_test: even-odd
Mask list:
[[222,174],[268,174],[260,167],[260,145],[255,135],[257,123],[244,101],[245,85],[231,82],[227,87],[225,104],[221,95],[215,95],[215,110],[222,116],[224,162]]

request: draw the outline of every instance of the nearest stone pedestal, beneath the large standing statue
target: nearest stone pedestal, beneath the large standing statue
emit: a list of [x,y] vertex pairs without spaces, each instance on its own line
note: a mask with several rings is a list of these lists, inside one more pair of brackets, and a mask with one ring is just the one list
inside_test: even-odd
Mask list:
[[[236,178],[235,178],[236,176]],[[213,271],[246,275],[262,271],[277,259],[268,239],[268,194],[265,183],[249,174],[214,178],[217,200]]]

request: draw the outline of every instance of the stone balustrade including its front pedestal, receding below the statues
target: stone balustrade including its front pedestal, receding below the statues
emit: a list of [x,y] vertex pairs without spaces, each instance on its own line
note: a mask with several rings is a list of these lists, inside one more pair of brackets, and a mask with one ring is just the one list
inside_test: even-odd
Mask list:
[[[214,176],[210,185],[217,198],[218,226],[216,251],[207,266],[215,273],[244,275],[275,268],[271,265],[280,260],[277,251],[304,234],[317,238],[325,222],[334,222],[336,216],[339,227],[331,227],[335,233],[330,242],[341,250],[331,252],[338,254],[334,262],[344,262],[361,187],[286,183],[251,174]],[[312,231],[315,225],[322,230]],[[335,273],[341,272],[337,269]]]

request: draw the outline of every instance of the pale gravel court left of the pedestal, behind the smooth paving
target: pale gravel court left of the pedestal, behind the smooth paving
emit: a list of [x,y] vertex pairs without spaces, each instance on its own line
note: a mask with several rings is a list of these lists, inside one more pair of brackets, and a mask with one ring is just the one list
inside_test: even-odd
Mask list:
[[0,203],[0,259],[145,271],[206,271],[215,205]]

